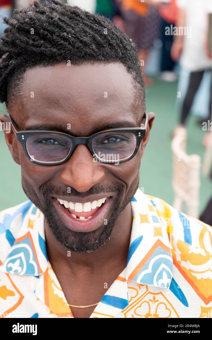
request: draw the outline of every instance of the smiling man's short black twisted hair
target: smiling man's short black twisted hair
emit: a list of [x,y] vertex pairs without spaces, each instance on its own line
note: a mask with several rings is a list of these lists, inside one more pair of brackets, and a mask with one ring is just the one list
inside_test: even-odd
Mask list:
[[8,106],[20,86],[23,73],[37,65],[70,61],[120,62],[134,79],[136,97],[145,107],[145,87],[133,41],[102,15],[61,1],[34,1],[14,10],[0,43],[0,102]]

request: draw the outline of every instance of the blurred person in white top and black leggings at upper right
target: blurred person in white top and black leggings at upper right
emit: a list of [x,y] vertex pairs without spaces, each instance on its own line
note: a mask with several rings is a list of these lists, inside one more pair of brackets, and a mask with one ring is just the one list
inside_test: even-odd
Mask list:
[[[171,50],[173,60],[179,60],[180,66],[190,72],[178,128],[185,126],[204,72],[211,70],[211,53],[208,46],[208,6],[212,6],[212,1],[177,0],[177,5],[176,27],[186,27],[190,32],[190,35],[175,35]],[[211,116],[211,98],[208,112],[208,117],[205,119],[210,119]]]

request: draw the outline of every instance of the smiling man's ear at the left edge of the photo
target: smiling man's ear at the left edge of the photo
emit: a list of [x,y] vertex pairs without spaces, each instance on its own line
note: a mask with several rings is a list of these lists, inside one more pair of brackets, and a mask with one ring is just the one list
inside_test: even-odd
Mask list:
[[20,165],[19,152],[18,152],[18,141],[17,141],[15,133],[13,132],[10,119],[6,115],[1,115],[0,122],[1,122],[1,128],[4,131],[5,141],[10,150],[10,153],[14,161]]

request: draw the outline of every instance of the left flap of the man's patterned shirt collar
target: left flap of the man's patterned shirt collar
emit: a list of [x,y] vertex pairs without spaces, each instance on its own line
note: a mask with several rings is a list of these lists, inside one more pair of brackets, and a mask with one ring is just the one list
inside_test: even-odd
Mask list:
[[[6,240],[11,248],[0,270],[18,275],[41,275],[48,266],[44,233],[44,215],[27,201],[18,206],[16,211],[5,214],[4,224],[9,221],[5,230]],[[8,224],[8,223],[7,223]],[[14,237],[14,231],[19,229]]]

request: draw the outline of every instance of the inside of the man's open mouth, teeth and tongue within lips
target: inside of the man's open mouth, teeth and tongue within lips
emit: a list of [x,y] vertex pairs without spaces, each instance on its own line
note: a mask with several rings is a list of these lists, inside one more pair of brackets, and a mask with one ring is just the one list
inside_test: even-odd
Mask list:
[[79,203],[68,202],[57,199],[64,208],[71,213],[71,216],[80,221],[88,221],[92,218],[97,210],[105,203],[108,197],[93,202]]

